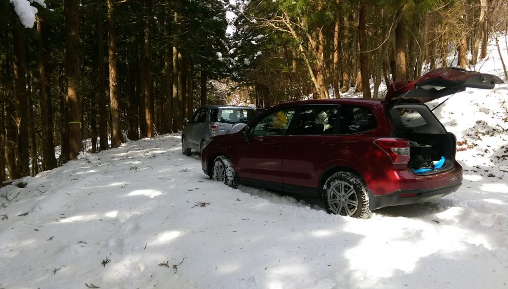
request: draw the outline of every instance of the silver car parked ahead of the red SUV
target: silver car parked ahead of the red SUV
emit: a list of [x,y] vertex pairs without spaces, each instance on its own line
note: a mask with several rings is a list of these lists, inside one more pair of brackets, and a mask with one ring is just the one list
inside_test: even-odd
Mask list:
[[182,153],[189,156],[192,149],[201,152],[212,136],[238,132],[255,117],[255,110],[249,106],[202,106],[185,120]]

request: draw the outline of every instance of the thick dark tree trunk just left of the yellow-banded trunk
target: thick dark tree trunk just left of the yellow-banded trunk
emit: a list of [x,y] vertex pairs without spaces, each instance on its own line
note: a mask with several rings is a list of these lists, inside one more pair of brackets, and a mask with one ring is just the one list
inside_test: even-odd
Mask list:
[[42,169],[48,170],[56,167],[55,146],[53,142],[53,109],[51,93],[46,83],[44,71],[44,46],[46,34],[43,33],[44,21],[37,16],[37,34],[39,36],[39,82],[41,86],[41,126],[42,126]]

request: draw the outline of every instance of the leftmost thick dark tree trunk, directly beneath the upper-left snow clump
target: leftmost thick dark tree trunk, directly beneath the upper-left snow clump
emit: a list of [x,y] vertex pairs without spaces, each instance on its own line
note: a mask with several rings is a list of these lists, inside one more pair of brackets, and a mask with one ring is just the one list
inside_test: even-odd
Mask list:
[[21,23],[16,20],[14,24],[14,99],[16,102],[17,128],[17,159],[16,167],[19,177],[28,176],[28,98],[25,77],[25,47],[24,31]]

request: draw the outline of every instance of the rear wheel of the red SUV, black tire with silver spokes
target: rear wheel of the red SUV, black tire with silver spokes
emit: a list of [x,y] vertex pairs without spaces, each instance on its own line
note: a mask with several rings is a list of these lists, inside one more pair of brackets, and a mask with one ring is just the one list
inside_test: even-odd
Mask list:
[[367,186],[351,172],[339,171],[331,175],[321,190],[321,200],[330,214],[360,219],[370,215]]

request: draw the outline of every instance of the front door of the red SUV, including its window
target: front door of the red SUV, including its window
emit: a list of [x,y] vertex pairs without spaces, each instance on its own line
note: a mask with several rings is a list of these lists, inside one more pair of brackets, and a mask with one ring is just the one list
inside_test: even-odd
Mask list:
[[237,170],[245,184],[282,189],[282,160],[294,108],[274,111],[249,128],[249,140],[238,148]]

